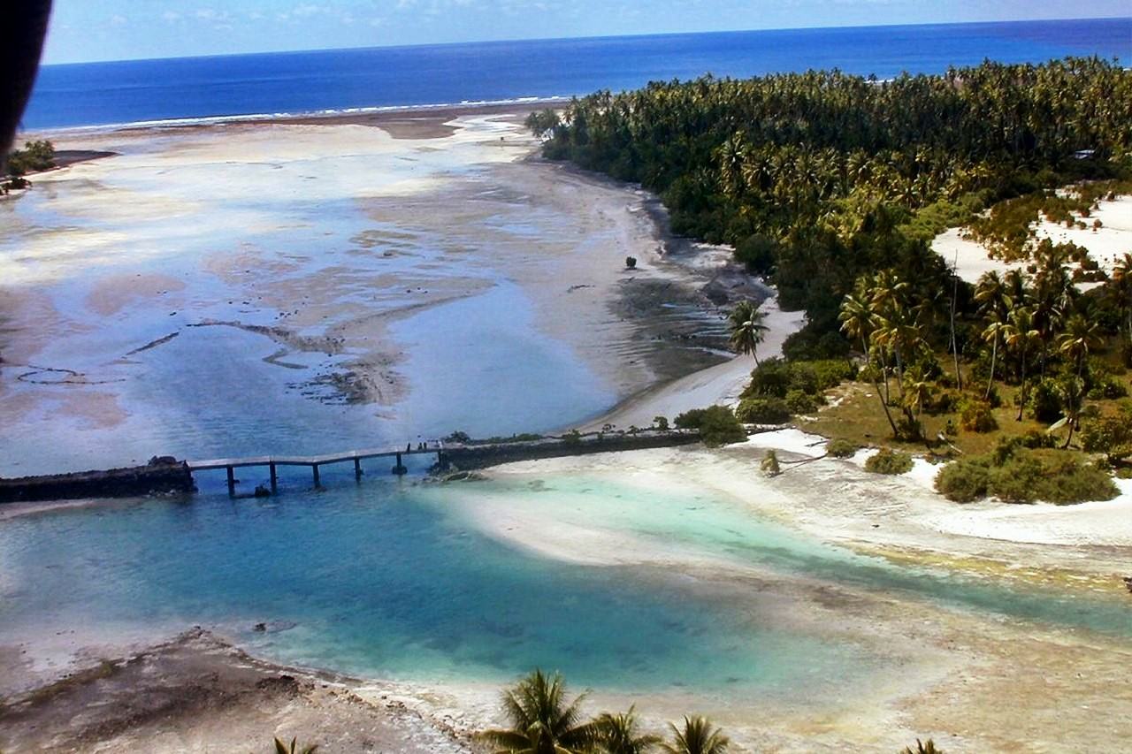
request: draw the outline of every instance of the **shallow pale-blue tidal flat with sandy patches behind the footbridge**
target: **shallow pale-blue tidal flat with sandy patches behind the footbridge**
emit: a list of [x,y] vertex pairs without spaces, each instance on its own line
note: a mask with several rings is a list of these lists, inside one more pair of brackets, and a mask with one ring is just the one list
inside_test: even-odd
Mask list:
[[0,202],[3,473],[555,429],[718,359],[643,194],[506,117],[397,136],[57,137],[117,154]]

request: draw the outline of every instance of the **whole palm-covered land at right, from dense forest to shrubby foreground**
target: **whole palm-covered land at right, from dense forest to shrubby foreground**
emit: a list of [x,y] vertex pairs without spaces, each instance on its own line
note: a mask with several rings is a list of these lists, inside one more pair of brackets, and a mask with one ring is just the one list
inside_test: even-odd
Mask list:
[[[805,309],[739,420],[953,461],[936,485],[957,502],[1057,503],[1112,498],[1132,471],[1132,255],[1106,273],[1031,224],[1100,228],[1098,203],[1132,190],[1129,123],[1132,72],[1097,58],[704,77],[528,121],[547,157],[640,181],[675,232],[732,245]],[[961,280],[931,248],[957,226],[1022,267]],[[758,325],[749,302],[730,317],[756,360]]]

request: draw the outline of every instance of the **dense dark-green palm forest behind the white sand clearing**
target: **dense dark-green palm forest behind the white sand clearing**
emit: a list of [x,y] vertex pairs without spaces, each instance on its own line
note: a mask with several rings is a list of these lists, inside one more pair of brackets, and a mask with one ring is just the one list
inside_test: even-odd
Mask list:
[[945,277],[926,238],[975,211],[1126,177],[1129,122],[1132,72],[1066,59],[885,83],[835,70],[653,83],[529,125],[548,157],[659,192],[675,232],[734,245],[816,339],[861,274]]

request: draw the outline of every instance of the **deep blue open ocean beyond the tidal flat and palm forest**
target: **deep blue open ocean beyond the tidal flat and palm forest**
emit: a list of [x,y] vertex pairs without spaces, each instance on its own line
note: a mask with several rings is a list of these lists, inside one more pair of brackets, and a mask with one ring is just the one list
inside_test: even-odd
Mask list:
[[839,68],[880,78],[1066,55],[1132,61],[1132,18],[537,40],[45,66],[27,129],[626,89]]

